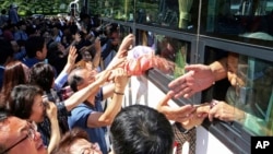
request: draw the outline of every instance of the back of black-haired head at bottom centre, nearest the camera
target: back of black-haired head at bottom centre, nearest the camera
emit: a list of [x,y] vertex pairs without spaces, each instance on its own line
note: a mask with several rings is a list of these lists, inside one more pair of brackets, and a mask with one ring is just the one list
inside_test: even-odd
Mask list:
[[167,118],[143,105],[124,107],[110,127],[114,154],[171,154],[174,132]]

